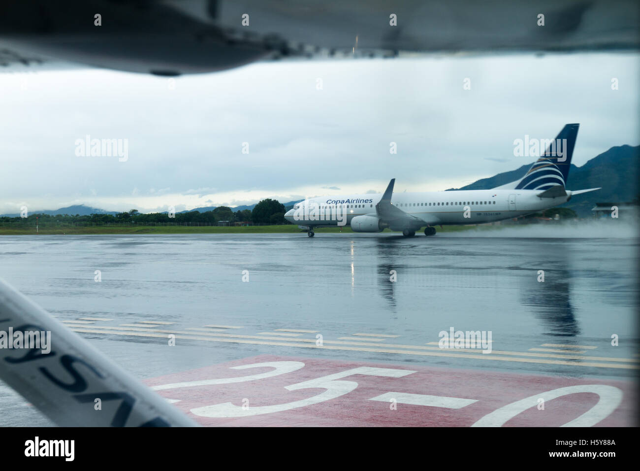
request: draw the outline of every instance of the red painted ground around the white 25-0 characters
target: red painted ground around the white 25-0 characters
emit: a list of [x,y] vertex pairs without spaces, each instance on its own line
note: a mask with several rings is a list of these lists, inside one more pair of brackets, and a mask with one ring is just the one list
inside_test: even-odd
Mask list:
[[[620,406],[596,424],[600,427],[635,426],[636,390],[631,381],[574,379],[568,377],[533,376],[513,373],[484,372],[480,370],[454,370],[413,365],[388,365],[319,358],[290,358],[262,355],[211,367],[198,368],[145,381],[149,386],[184,381],[201,381],[253,376],[273,371],[270,367],[234,370],[230,367],[272,361],[300,361],[303,368],[279,376],[253,381],[207,386],[191,386],[159,390],[167,399],[177,399],[174,405],[204,426],[471,426],[485,415],[525,397],[557,388],[579,384],[606,384],[623,393]],[[353,375],[340,378],[355,381],[355,390],[318,404],[291,410],[256,415],[253,417],[211,418],[198,417],[191,409],[232,402],[242,406],[248,400],[250,408],[273,406],[301,401],[323,393],[323,388],[305,388],[289,391],[285,386],[338,374],[358,367],[413,370],[403,377]],[[337,381],[340,381],[337,380]],[[438,408],[411,404],[397,404],[369,399],[388,392],[426,394],[434,396],[476,399],[477,402],[460,409]],[[245,401],[246,402],[246,401]],[[545,409],[536,406],[511,418],[505,426],[557,427],[586,413],[598,402],[595,393],[573,393],[545,402]]]

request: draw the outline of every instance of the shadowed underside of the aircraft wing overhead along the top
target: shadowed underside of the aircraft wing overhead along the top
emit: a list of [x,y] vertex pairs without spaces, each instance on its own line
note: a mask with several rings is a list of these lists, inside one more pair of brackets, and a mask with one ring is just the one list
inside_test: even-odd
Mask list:
[[57,60],[176,76],[260,60],[637,50],[639,16],[636,0],[3,0],[0,70]]

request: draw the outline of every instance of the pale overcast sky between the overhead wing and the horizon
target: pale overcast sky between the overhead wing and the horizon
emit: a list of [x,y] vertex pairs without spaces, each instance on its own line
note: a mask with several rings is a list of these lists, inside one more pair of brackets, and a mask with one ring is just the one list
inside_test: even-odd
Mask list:
[[[513,141],[570,122],[580,166],[640,144],[639,72],[640,54],[601,53],[0,74],[0,213],[445,190],[532,161]],[[76,155],[86,136],[127,140],[127,160]]]

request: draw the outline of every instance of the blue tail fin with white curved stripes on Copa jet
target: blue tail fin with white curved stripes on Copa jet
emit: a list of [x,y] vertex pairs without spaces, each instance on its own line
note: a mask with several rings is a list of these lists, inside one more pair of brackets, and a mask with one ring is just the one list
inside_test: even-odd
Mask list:
[[580,124],[567,124],[547,151],[531,165],[531,169],[518,181],[516,190],[547,190],[554,185],[566,186],[569,169]]

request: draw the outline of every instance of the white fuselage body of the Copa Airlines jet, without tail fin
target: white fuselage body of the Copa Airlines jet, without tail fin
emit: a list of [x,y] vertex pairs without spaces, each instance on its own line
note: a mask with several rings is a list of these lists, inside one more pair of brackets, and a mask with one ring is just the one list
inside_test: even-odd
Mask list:
[[[540,198],[540,190],[460,190],[394,193],[391,201],[400,210],[424,221],[424,226],[481,224],[510,219],[553,208],[571,198]],[[376,215],[382,194],[316,197],[302,201],[285,218],[301,226],[350,224],[362,215]],[[297,208],[297,209],[296,209]],[[310,208],[310,209],[305,209]]]

